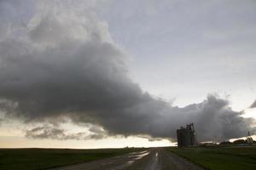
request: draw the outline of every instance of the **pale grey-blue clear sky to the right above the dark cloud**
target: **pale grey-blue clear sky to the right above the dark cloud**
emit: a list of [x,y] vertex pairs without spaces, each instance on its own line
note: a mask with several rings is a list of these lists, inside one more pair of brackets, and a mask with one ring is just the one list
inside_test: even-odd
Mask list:
[[230,95],[236,110],[253,102],[255,1],[110,2],[100,14],[143,89],[176,105],[209,93]]

